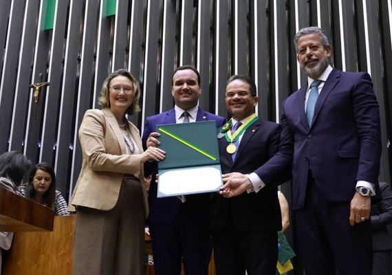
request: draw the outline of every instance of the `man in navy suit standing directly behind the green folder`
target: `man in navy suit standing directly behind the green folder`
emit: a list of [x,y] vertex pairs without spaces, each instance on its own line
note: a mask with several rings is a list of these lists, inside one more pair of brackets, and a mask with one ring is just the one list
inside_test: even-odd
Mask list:
[[[157,146],[157,124],[174,124],[215,120],[217,127],[226,120],[198,107],[202,93],[200,76],[193,66],[175,69],[171,92],[175,107],[164,113],[146,118],[142,141],[144,148]],[[183,115],[186,111],[186,115]],[[155,173],[157,166],[153,167]],[[155,174],[153,175],[155,178]],[[184,263],[186,275],[208,274],[211,243],[208,231],[209,194],[157,198],[157,184],[149,191],[148,219],[153,245],[155,274],[179,275]]]

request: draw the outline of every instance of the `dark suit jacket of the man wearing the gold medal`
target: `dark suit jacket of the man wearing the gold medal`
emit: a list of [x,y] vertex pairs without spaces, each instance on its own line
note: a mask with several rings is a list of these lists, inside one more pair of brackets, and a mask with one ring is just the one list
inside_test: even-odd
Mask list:
[[[226,152],[226,137],[219,139],[222,173],[250,174],[276,153],[281,126],[274,122],[257,120],[246,129],[239,144],[235,162]],[[244,192],[230,199],[214,194],[210,208],[210,229],[222,230],[228,220],[237,230],[279,231],[282,228],[281,208],[277,188],[263,188],[259,192]]]

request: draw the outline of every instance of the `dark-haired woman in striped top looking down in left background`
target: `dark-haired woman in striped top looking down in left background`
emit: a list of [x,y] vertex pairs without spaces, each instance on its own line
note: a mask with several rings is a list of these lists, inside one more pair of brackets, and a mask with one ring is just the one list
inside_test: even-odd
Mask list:
[[56,216],[69,214],[67,201],[56,190],[56,175],[50,164],[36,164],[30,173],[28,184],[21,186],[18,191],[19,195],[54,209]]

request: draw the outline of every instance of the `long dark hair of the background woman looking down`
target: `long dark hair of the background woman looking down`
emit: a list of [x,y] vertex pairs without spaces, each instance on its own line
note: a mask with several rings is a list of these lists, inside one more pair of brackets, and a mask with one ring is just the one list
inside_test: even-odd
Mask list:
[[43,170],[44,172],[49,173],[50,177],[52,177],[52,183],[50,184],[49,189],[47,189],[47,191],[43,195],[42,204],[44,206],[54,209],[54,204],[56,203],[56,175],[54,173],[53,167],[50,164],[41,162],[39,164],[36,164],[32,168],[30,172],[29,182],[26,186],[26,197],[34,201],[36,190],[34,189],[33,181],[37,170]]

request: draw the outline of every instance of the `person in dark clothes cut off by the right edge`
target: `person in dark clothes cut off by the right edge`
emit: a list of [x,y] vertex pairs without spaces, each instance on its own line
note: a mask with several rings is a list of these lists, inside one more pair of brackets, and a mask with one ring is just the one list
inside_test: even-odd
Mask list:
[[391,275],[392,241],[386,225],[392,223],[392,190],[386,182],[380,182],[382,199],[371,206],[370,219],[373,228],[373,275]]

